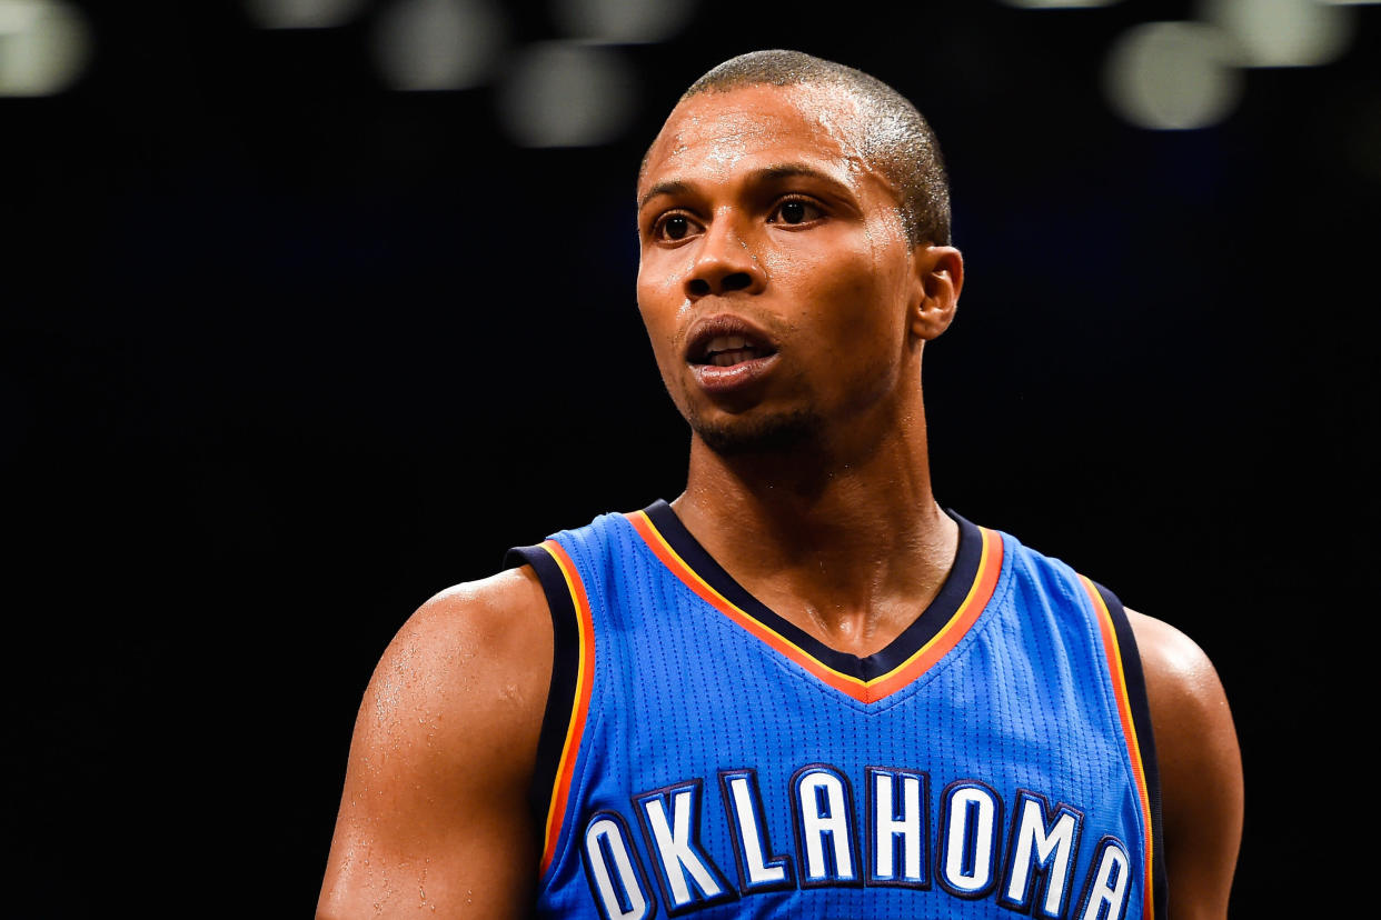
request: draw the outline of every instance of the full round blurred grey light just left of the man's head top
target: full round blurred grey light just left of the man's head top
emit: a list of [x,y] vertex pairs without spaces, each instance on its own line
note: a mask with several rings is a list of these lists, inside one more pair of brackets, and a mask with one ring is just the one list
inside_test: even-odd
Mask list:
[[500,117],[522,146],[608,143],[632,120],[637,83],[637,74],[609,48],[534,44],[501,87]]

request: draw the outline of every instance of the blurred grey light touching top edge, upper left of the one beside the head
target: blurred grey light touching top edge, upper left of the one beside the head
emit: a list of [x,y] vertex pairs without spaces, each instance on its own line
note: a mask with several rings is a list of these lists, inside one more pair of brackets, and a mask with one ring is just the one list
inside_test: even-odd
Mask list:
[[507,22],[485,0],[400,0],[374,29],[374,59],[395,90],[467,90],[489,79]]

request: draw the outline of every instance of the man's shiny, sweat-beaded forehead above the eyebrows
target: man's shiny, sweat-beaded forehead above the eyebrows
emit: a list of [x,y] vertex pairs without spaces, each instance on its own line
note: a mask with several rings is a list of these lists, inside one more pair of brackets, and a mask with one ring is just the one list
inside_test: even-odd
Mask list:
[[749,86],[682,101],[648,150],[638,193],[666,181],[728,182],[782,163],[851,186],[876,171],[862,150],[858,101],[837,87]]

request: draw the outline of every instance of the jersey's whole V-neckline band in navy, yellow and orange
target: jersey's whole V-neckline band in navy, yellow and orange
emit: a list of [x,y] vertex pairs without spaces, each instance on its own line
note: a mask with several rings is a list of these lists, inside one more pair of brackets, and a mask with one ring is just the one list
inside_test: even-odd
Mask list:
[[628,521],[661,563],[692,590],[787,658],[862,702],[876,702],[911,684],[978,619],[997,586],[1003,541],[946,509],[958,524],[954,564],[939,592],[885,648],[866,657],[826,646],[744,589],[686,530],[666,501]]

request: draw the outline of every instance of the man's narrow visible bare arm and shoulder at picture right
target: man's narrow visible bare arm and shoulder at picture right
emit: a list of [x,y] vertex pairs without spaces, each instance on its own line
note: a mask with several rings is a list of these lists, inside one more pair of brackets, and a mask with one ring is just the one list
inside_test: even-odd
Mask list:
[[1174,626],[1127,611],[1160,766],[1171,920],[1221,920],[1242,843],[1242,753],[1218,673]]

